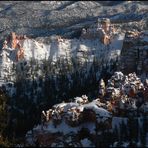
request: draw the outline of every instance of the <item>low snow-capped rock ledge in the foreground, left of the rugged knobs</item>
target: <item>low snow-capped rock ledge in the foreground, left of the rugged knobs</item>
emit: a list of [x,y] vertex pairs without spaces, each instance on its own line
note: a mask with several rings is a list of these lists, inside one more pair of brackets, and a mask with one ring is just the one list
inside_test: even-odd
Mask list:
[[[31,131],[28,131],[26,134],[28,145],[33,145],[31,135],[33,136],[32,138],[37,140],[41,145],[51,146],[56,142],[56,139],[46,141],[45,143],[43,139],[49,136],[51,137],[53,134],[57,134],[59,137],[61,135],[66,136],[70,133],[73,133],[73,135],[82,134],[81,132],[85,128],[89,131],[90,135],[94,135],[96,125],[98,127],[103,125],[108,129],[111,127],[111,114],[106,109],[99,107],[95,101],[90,103],[85,102],[84,104],[72,102],[60,103],[54,105],[53,108],[46,111],[46,113],[44,111],[42,113],[42,124],[33,129],[34,136],[31,134]],[[42,138],[40,137],[41,135]],[[72,141],[71,139],[68,143]],[[86,141],[89,141],[89,139],[81,140],[82,143],[80,143],[86,145]]]

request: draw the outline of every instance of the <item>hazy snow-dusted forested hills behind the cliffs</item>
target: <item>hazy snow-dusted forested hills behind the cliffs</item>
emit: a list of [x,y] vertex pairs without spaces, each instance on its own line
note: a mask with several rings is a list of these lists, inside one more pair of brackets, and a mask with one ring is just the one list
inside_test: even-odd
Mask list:
[[1,1],[0,40],[12,31],[35,37],[74,36],[97,18],[122,23],[146,19],[147,7],[146,1]]

